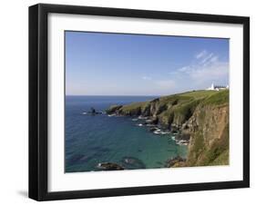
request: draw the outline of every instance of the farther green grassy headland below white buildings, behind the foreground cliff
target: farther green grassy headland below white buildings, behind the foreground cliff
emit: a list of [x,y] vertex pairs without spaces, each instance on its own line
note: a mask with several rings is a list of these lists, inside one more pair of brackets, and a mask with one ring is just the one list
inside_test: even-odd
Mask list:
[[129,116],[158,118],[159,123],[171,129],[189,120],[199,104],[221,105],[228,103],[229,91],[195,91],[163,96],[150,102],[134,102],[128,105],[111,106],[107,112]]

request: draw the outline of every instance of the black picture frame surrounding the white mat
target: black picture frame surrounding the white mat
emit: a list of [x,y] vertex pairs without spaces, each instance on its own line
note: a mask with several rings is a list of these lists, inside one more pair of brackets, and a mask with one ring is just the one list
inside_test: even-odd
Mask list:
[[[103,15],[243,25],[243,180],[100,190],[47,190],[47,16]],[[250,187],[250,18],[76,5],[29,7],[29,198],[67,200],[191,190]]]

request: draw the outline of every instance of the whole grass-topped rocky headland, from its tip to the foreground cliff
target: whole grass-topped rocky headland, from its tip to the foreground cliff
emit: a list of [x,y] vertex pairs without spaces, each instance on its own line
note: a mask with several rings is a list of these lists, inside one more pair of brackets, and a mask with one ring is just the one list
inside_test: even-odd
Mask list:
[[186,161],[172,164],[203,166],[229,164],[229,90],[196,91],[150,102],[114,105],[108,114],[142,116],[189,140]]

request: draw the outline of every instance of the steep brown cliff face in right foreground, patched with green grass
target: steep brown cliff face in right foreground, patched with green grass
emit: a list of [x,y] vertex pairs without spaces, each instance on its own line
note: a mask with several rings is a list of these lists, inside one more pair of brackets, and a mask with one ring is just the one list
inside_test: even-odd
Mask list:
[[229,106],[200,105],[189,119],[185,166],[229,164]]

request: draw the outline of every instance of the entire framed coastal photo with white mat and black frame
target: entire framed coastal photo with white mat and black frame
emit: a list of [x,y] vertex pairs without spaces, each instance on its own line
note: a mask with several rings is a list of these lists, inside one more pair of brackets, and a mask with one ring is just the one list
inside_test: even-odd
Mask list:
[[250,20],[29,7],[29,197],[250,186]]

